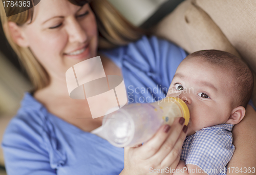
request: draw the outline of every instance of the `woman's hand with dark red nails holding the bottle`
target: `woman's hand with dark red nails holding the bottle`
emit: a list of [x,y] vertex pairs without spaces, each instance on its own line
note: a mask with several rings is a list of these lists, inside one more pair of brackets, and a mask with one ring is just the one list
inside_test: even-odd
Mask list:
[[[187,126],[184,126],[184,122],[184,118],[178,118],[172,126],[161,126],[143,145],[125,147],[124,169],[120,174],[172,174],[168,170],[176,169],[186,137]],[[165,172],[161,172],[161,169]]]

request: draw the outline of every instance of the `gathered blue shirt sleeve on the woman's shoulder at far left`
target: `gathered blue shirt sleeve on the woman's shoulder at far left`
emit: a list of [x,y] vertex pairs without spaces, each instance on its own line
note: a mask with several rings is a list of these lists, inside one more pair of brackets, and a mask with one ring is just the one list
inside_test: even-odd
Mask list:
[[66,162],[46,114],[46,108],[26,93],[2,140],[8,173],[56,174],[57,166]]

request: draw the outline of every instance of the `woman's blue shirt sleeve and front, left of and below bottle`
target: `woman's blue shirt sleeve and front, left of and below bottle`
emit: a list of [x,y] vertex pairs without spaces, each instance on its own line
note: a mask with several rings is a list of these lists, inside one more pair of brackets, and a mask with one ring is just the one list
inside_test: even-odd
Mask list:
[[2,147],[9,175],[119,174],[123,148],[52,115],[26,93]]

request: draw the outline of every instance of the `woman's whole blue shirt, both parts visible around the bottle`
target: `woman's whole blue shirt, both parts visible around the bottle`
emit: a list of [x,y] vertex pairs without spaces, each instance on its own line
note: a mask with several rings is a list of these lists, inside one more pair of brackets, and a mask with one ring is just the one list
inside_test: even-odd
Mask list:
[[[122,69],[130,102],[136,102],[137,97],[148,97],[150,102],[165,97],[179,63],[186,56],[184,50],[166,40],[145,36],[128,46],[102,53]],[[155,91],[135,92],[146,88]],[[162,88],[166,89],[161,92]],[[123,148],[50,114],[29,93],[9,123],[2,147],[9,175],[115,175],[124,167]]]

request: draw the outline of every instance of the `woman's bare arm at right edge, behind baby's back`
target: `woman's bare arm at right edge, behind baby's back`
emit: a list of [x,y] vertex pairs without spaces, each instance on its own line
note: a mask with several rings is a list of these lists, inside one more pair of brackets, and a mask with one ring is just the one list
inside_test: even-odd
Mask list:
[[[228,175],[256,174],[255,126],[256,112],[254,111],[252,106],[247,105],[245,117],[239,124],[235,125],[232,130],[233,144],[236,147],[236,150],[234,151],[231,161],[228,163]],[[248,172],[248,168],[251,169],[250,172]],[[243,172],[236,172],[236,170],[238,169],[243,170]]]

